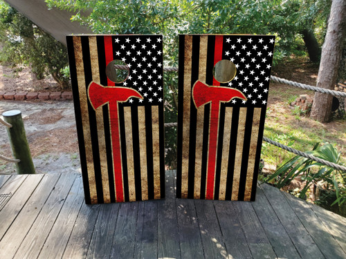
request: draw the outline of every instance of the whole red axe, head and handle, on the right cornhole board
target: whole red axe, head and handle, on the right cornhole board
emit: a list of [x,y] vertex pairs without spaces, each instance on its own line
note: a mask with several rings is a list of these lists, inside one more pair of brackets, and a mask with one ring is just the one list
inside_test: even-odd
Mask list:
[[210,103],[210,133],[208,152],[207,192],[206,199],[214,198],[214,181],[217,155],[217,133],[219,132],[220,102],[230,102],[233,98],[246,100],[246,96],[235,88],[208,86],[197,80],[192,87],[194,105],[199,108]]

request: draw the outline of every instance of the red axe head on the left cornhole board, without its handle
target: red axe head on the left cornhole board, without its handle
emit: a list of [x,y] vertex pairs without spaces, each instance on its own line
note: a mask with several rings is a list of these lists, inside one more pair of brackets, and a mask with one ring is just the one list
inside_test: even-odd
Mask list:
[[88,97],[94,110],[107,104],[116,104],[117,102],[127,102],[131,97],[143,99],[138,91],[127,87],[109,87],[91,82],[88,88]]

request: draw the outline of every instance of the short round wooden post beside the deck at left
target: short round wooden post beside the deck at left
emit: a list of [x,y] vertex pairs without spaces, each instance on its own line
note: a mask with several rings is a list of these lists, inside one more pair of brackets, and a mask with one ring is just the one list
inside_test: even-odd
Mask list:
[[35,173],[33,159],[31,158],[28,140],[24,129],[23,119],[21,112],[17,110],[6,111],[2,114],[5,122],[12,125],[7,128],[8,138],[12,148],[12,154],[20,162],[16,163],[18,174],[32,174]]

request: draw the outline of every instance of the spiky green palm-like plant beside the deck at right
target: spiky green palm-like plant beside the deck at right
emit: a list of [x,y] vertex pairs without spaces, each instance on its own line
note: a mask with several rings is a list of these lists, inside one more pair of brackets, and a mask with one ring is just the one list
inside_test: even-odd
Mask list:
[[[307,151],[306,153],[335,164],[339,164],[340,162],[340,152],[329,143],[321,146],[320,143],[317,143],[313,146],[312,151]],[[273,182],[277,188],[281,189],[298,177],[305,182],[304,187],[298,195],[300,198],[307,198],[307,191],[309,191],[312,184],[322,184],[325,189],[335,192],[336,200],[333,204],[337,203],[340,207],[346,201],[345,171],[336,170],[331,166],[299,155],[282,165],[273,175],[268,176],[265,181]]]

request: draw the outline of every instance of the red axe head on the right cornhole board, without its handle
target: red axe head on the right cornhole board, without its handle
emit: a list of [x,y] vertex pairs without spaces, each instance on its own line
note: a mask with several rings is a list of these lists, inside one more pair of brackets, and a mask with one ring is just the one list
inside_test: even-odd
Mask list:
[[197,108],[210,102],[230,102],[233,98],[246,100],[246,96],[235,88],[208,86],[199,80],[192,88],[192,99]]

